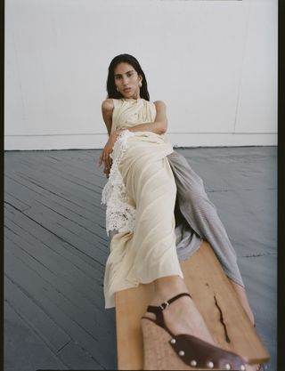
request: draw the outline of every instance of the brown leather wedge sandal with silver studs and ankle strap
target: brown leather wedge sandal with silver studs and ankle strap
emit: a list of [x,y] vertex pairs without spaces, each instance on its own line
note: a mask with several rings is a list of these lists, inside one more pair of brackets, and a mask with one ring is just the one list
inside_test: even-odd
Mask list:
[[163,311],[171,302],[181,296],[177,294],[159,307],[148,306],[147,311],[156,314],[157,318],[142,317],[143,335],[143,369],[223,369],[245,371],[244,360],[232,351],[225,351],[196,336],[173,335],[167,328]]

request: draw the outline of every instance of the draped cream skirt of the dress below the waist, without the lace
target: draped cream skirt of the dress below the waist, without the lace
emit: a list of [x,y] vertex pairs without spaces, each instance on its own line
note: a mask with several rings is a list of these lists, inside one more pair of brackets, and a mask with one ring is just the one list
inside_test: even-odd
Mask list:
[[158,134],[135,133],[119,170],[135,207],[133,232],[119,232],[110,243],[104,276],[105,307],[114,293],[157,278],[180,276],[175,245],[175,178],[167,161],[172,147]]

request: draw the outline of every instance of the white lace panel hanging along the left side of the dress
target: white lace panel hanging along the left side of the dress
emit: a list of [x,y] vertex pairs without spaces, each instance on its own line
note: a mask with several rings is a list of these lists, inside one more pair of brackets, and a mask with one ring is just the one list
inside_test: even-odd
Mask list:
[[127,149],[127,138],[134,136],[134,133],[124,130],[118,135],[110,157],[113,160],[110,168],[110,175],[102,190],[102,204],[106,209],[106,230],[128,232],[134,230],[135,208],[128,203],[126,186],[118,165]]

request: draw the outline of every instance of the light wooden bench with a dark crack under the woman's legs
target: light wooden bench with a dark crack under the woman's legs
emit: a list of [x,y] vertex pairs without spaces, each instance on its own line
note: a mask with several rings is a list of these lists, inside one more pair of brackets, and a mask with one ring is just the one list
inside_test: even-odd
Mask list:
[[[268,351],[208,243],[204,241],[181,265],[185,283],[216,345],[248,357],[252,364],[268,362]],[[153,293],[153,284],[148,284],[115,294],[119,370],[143,369],[141,317]],[[185,369],[195,368],[185,365]]]

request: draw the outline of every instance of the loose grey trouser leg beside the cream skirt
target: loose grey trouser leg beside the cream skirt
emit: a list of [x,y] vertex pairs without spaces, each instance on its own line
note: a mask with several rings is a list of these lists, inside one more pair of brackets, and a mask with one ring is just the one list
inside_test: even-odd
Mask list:
[[237,255],[216,213],[216,206],[208,199],[203,181],[191,169],[186,158],[178,152],[174,151],[167,158],[177,188],[175,233],[176,236],[181,234],[185,237],[176,241],[179,260],[191,256],[199,246],[199,238],[203,238],[212,246],[225,274],[240,286],[244,286]]

